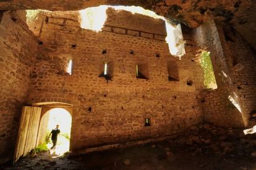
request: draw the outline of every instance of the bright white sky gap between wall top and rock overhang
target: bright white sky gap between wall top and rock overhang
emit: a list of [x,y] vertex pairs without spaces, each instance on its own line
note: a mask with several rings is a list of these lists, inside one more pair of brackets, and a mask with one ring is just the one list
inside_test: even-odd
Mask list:
[[182,36],[181,25],[173,25],[166,18],[160,15],[156,15],[155,12],[151,10],[145,10],[142,7],[98,6],[88,7],[87,9],[79,10],[81,28],[101,31],[107,19],[106,10],[109,7],[116,10],[127,10],[129,12],[132,12],[132,14],[142,14],[164,20],[166,23],[166,42],[169,46],[169,52],[176,57],[181,57],[182,55],[186,54],[184,47],[185,41]]

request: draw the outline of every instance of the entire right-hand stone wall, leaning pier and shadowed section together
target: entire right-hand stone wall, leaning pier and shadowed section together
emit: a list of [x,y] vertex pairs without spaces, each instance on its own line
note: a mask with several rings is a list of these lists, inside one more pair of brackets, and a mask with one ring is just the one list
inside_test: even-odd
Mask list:
[[210,20],[195,29],[197,46],[211,52],[218,84],[202,92],[204,118],[219,126],[244,127],[256,106],[255,54],[237,31],[227,28]]

